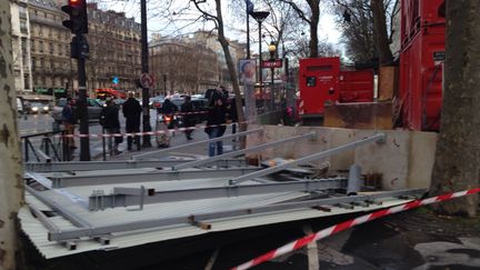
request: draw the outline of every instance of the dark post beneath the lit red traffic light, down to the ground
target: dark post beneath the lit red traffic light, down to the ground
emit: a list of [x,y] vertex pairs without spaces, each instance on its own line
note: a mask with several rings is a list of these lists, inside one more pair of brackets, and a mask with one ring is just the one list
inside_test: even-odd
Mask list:
[[[89,121],[88,121],[88,109],[87,109],[87,74],[84,59],[88,57],[88,43],[87,39],[81,33],[76,34],[76,41],[73,41],[80,51],[80,56],[77,59],[78,67],[78,80],[79,80],[79,98],[77,110],[80,116],[80,161],[90,161],[90,138],[89,138]],[[86,54],[83,54],[86,53]]]

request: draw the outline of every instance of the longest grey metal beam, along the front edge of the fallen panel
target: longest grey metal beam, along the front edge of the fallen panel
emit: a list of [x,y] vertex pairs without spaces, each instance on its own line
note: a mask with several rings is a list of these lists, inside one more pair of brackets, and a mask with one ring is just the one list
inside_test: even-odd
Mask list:
[[151,229],[151,228],[166,227],[172,224],[188,224],[194,221],[202,221],[202,220],[214,220],[214,219],[232,218],[232,217],[248,216],[248,214],[259,214],[259,213],[286,211],[286,210],[293,210],[293,209],[313,208],[318,206],[336,204],[336,203],[376,201],[383,198],[392,198],[392,197],[398,197],[403,194],[421,196],[424,191],[426,191],[424,189],[386,191],[376,194],[348,196],[348,197],[340,197],[340,198],[318,199],[318,200],[309,200],[309,201],[300,201],[300,202],[286,202],[286,203],[277,203],[271,206],[263,206],[263,207],[256,207],[256,208],[248,208],[248,209],[199,213],[199,214],[188,216],[188,217],[137,220],[132,222],[124,222],[124,223],[111,224],[111,226],[100,226],[100,227],[88,228],[88,229],[73,229],[73,230],[49,232],[49,240],[57,240],[57,241],[70,240],[70,239],[77,239],[81,237],[96,238],[99,236],[106,236],[114,232]]

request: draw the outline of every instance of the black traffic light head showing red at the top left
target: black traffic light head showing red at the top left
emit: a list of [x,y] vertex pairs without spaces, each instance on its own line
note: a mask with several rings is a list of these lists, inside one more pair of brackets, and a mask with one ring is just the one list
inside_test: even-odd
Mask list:
[[61,10],[70,16],[70,20],[63,21],[63,26],[76,34],[88,33],[87,0],[67,1]]

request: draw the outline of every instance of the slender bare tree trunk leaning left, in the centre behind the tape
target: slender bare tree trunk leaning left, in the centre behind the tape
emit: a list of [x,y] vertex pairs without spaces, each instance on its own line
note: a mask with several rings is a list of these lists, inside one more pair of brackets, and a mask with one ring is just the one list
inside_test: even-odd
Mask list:
[[234,66],[233,60],[232,60],[231,54],[230,54],[229,42],[224,37],[223,18],[222,18],[222,13],[221,13],[220,1],[221,0],[216,0],[219,42],[223,49],[223,53],[224,53],[226,61],[227,61],[227,67],[229,70],[231,82],[232,82],[233,92],[236,96],[236,106],[237,106],[237,114],[238,114],[238,121],[239,121],[239,130],[246,131],[247,130],[247,123],[244,121],[246,118],[244,118],[243,109],[242,109],[243,106],[242,106],[242,99],[241,99],[241,94],[240,94],[240,87],[239,87],[239,81],[238,81],[238,76],[237,76],[237,69],[236,69],[236,66]]

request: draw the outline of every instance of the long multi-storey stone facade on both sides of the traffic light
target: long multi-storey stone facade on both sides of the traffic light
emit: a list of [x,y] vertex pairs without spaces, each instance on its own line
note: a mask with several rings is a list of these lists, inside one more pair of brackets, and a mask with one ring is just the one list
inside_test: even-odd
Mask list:
[[[62,26],[67,14],[54,0],[11,2],[16,88],[19,92],[74,96],[77,60],[70,58],[72,34]],[[124,13],[88,4],[90,58],[87,88],[134,90],[140,77],[140,24]],[[113,81],[117,81],[113,82]]]

